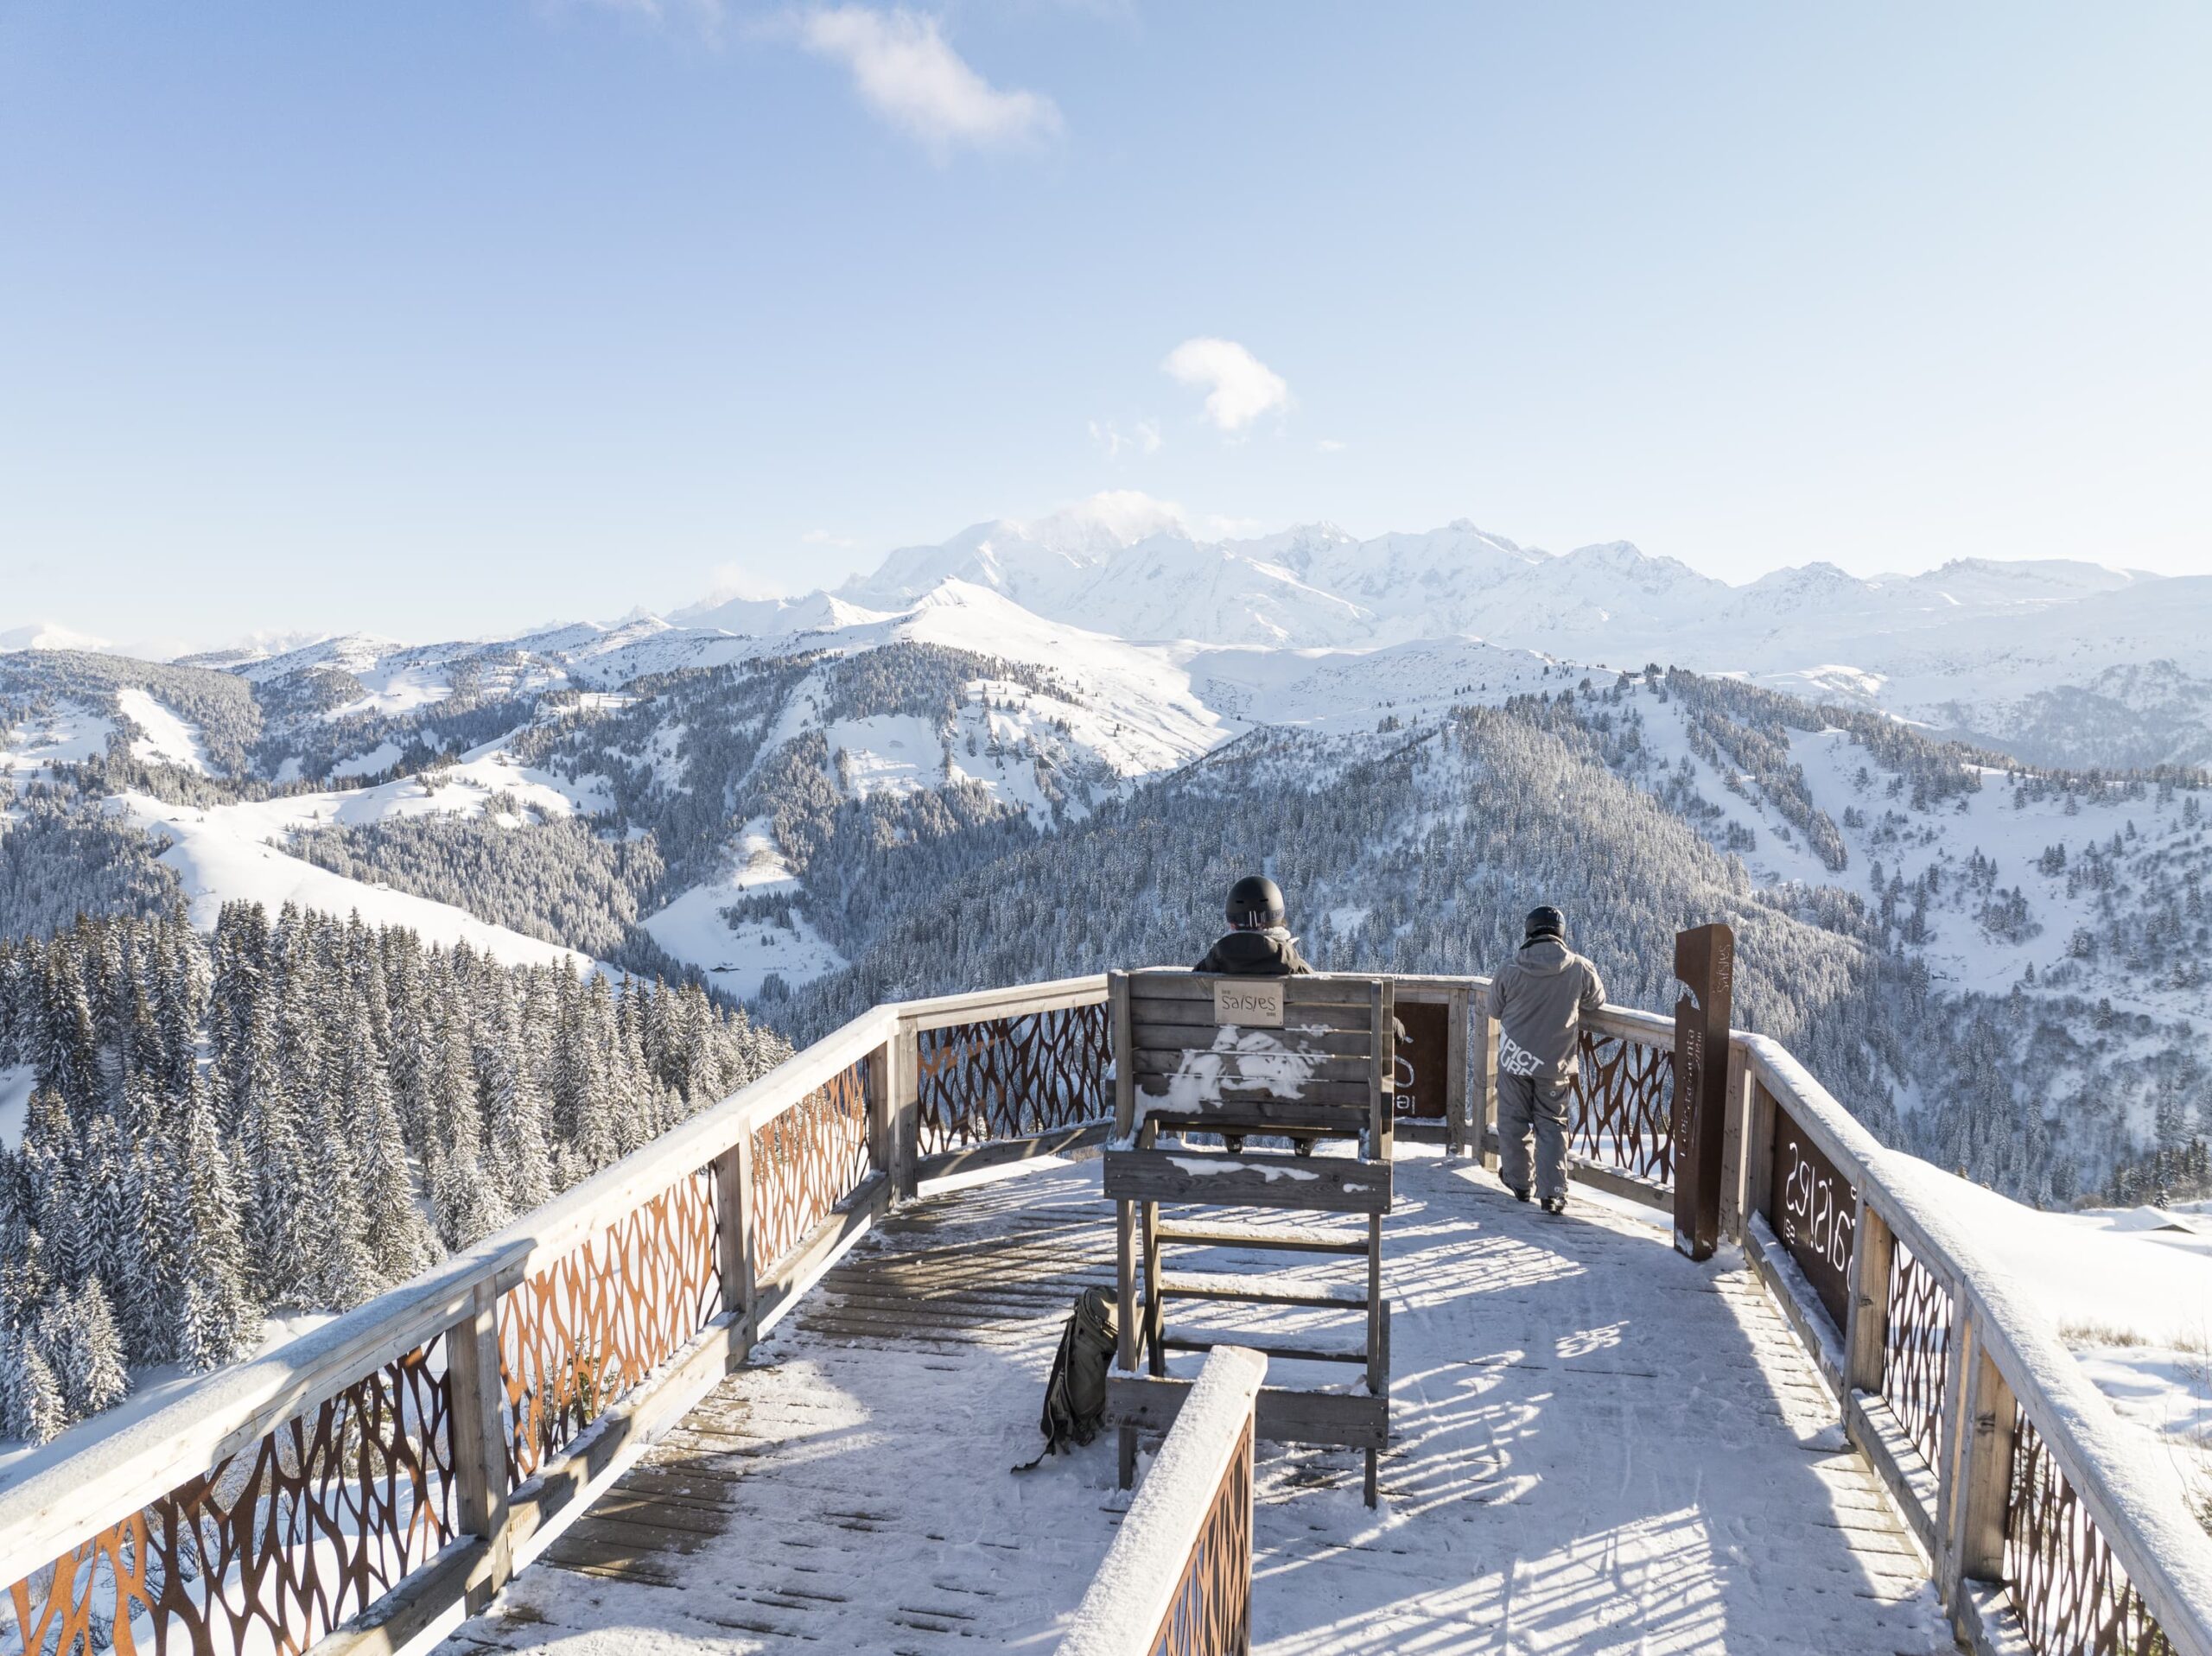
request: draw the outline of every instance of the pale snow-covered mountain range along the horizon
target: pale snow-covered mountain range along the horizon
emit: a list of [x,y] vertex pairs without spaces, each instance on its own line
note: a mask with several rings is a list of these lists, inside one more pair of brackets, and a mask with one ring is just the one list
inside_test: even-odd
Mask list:
[[[998,610],[987,608],[991,597]],[[949,612],[962,615],[949,621]],[[1066,628],[1135,646],[1150,663],[1139,677],[1237,652],[1248,672],[1221,674],[1223,685],[1250,672],[1279,681],[1283,668],[1252,668],[1252,652],[1354,657],[1475,639],[1557,661],[1659,661],[1745,677],[2037,763],[2212,761],[2212,577],[1955,559],[1924,575],[1867,579],[1805,564],[1730,586],[1628,542],[1553,555],[1469,522],[1371,539],[1329,524],[1208,539],[1172,506],[1137,493],[975,524],[799,597],[712,597],[666,619],[639,612],[617,626],[495,641],[336,637],[188,661],[261,683],[310,674],[332,694],[354,681],[358,694],[341,705],[365,712],[431,699],[453,670],[611,690],[641,674],[801,646],[869,648],[887,637],[960,635],[964,648],[1044,648],[1046,657],[1024,659],[1048,659]],[[1115,643],[1086,648],[1113,652]],[[0,648],[97,646],[66,628],[22,626],[0,632]],[[1385,672],[1387,657],[1367,670]],[[1199,668],[1201,701],[1203,677]],[[1267,716],[1256,703],[1239,705]]]

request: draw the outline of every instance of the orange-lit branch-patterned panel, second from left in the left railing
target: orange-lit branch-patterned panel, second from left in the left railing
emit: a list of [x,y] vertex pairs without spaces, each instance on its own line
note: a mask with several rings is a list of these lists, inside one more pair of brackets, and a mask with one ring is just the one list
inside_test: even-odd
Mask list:
[[509,1488],[723,1311],[714,1183],[701,1167],[500,1296]]

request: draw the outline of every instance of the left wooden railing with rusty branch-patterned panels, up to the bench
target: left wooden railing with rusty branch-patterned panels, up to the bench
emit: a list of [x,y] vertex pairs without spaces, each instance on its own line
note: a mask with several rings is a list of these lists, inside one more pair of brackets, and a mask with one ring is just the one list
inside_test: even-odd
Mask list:
[[482,1607],[896,1196],[1102,1139],[1104,999],[878,1006],[414,1282],[73,1433],[0,1490],[0,1647],[389,1652]]

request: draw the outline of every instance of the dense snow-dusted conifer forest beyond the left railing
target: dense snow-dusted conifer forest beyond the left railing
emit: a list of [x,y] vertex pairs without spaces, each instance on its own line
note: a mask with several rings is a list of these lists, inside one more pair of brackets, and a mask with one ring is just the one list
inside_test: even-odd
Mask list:
[[[9,834],[13,840],[15,834]],[[573,1185],[787,1048],[697,986],[226,904],[0,940],[0,1435],[212,1369]]]

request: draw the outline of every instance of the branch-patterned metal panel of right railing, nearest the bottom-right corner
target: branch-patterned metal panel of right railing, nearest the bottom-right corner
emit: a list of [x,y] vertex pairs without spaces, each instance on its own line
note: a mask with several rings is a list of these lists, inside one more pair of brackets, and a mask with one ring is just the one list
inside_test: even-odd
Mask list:
[[2172,1641],[2017,1406],[2004,1587],[2037,1656],[2172,1656]]

